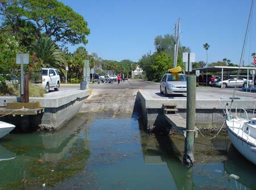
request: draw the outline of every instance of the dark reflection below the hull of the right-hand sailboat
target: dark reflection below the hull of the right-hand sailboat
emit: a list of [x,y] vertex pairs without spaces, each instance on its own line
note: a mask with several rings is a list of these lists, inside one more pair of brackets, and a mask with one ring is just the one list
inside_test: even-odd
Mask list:
[[228,160],[224,162],[224,170],[228,175],[234,174],[239,179],[231,179],[237,189],[256,189],[256,167],[245,159],[233,144],[228,151]]

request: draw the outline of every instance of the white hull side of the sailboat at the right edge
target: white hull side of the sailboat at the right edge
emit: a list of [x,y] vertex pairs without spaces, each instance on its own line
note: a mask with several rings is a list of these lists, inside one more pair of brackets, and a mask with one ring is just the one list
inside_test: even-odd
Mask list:
[[256,165],[255,139],[242,133],[242,129],[232,127],[229,122],[230,121],[226,122],[226,126],[228,127],[230,141],[240,154]]

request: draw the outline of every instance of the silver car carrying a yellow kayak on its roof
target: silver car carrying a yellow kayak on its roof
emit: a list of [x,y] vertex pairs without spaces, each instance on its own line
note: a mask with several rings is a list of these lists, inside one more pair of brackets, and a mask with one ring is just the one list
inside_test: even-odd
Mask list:
[[181,73],[166,73],[160,81],[160,93],[187,94],[187,79]]

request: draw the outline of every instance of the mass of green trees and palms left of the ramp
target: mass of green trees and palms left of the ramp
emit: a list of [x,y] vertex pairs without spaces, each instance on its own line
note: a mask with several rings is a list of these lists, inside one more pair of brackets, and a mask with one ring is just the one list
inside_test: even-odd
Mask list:
[[[35,73],[46,67],[56,68],[65,78],[68,66],[69,82],[78,82],[82,80],[84,60],[89,60],[91,68],[126,75],[136,65],[130,60],[104,60],[97,53],[89,54],[84,47],[90,34],[88,23],[57,0],[1,0],[0,19],[0,88],[6,88],[7,75],[19,75],[16,53],[30,55],[24,69],[33,80]],[[82,46],[71,53],[68,44]]]

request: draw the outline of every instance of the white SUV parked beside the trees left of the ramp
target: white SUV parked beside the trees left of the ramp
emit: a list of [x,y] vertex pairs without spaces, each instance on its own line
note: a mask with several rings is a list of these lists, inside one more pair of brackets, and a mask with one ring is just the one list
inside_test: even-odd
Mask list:
[[55,91],[60,89],[60,75],[57,69],[43,68],[42,69],[42,85],[46,88],[46,93],[50,88],[54,88]]

